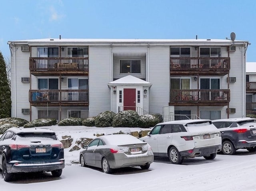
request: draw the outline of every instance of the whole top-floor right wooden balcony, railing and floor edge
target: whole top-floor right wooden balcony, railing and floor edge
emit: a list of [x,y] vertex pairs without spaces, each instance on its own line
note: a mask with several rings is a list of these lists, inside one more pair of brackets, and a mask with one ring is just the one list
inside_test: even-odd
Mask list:
[[171,57],[170,75],[226,75],[230,57]]

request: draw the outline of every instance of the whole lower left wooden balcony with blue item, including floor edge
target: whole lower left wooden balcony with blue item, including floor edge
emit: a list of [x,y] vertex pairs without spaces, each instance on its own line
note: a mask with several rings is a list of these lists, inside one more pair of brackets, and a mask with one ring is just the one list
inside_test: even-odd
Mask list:
[[88,106],[88,90],[30,90],[32,106]]

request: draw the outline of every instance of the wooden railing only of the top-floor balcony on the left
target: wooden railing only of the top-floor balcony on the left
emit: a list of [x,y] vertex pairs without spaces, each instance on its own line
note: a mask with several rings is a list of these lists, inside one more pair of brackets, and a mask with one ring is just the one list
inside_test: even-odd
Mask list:
[[29,61],[30,71],[88,71],[88,57],[72,58],[32,58]]

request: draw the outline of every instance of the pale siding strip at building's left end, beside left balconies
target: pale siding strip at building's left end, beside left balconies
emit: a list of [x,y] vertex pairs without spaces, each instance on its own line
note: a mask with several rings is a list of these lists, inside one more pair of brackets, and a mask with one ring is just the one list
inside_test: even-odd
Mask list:
[[[14,51],[15,50],[15,51]],[[16,57],[16,63],[15,63]],[[30,89],[30,83],[22,83],[22,77],[30,77],[29,72],[29,57],[30,51],[21,51],[21,45],[16,45],[16,48],[12,49],[12,117],[23,118],[30,120],[29,114],[22,114],[21,109],[30,108],[28,100],[28,92]],[[15,73],[16,67],[16,73]],[[15,81],[16,77],[16,81]],[[15,95],[16,84],[16,95]],[[16,100],[16,102],[15,102]]]

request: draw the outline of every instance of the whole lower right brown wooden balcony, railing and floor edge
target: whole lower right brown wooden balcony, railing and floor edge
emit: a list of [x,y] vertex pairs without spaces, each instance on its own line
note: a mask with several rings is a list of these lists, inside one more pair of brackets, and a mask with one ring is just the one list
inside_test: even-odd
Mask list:
[[170,106],[226,106],[229,102],[228,89],[170,90]]

